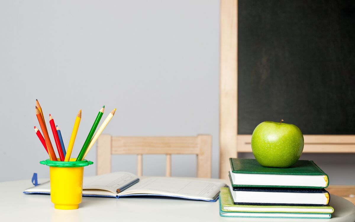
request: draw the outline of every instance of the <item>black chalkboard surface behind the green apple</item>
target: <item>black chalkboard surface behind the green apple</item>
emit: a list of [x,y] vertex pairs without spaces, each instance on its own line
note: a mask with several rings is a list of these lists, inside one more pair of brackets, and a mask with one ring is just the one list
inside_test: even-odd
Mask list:
[[355,1],[238,1],[238,134],[355,134]]

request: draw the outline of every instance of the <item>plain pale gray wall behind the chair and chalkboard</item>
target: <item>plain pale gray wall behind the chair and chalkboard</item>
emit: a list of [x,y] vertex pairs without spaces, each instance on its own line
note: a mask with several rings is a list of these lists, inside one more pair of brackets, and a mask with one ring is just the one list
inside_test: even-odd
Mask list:
[[[38,163],[48,156],[33,129],[35,99],[65,145],[82,109],[73,157],[105,105],[103,118],[117,108],[107,134],[211,134],[218,177],[219,1],[1,0],[0,30],[0,181],[49,176]],[[355,184],[354,157],[302,155],[332,184]],[[87,159],[95,162],[96,146]],[[164,156],[143,162],[144,175],[164,175]],[[172,170],[195,176],[195,157],[173,156]],[[114,156],[113,171],[135,173],[135,156]],[[94,174],[95,165],[86,167]]]

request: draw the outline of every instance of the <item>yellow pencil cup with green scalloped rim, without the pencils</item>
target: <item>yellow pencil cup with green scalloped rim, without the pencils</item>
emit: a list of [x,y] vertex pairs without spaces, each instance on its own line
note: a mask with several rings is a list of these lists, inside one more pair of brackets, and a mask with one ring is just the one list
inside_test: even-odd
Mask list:
[[50,159],[39,162],[49,166],[50,199],[55,209],[74,210],[79,208],[83,191],[84,167],[93,164],[86,159],[69,162],[52,161]]

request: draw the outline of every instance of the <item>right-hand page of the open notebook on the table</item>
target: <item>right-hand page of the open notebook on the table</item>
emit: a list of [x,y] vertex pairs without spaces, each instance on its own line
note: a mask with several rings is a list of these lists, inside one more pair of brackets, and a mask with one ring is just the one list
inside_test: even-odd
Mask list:
[[214,199],[225,183],[174,177],[149,177],[118,194],[160,194],[196,199]]

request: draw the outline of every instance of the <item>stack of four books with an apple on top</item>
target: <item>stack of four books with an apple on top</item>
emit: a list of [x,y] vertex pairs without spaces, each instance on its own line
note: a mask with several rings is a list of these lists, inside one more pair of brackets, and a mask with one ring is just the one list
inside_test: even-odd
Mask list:
[[230,187],[220,189],[220,216],[331,218],[328,175],[313,161],[290,168],[261,166],[255,159],[230,158]]

